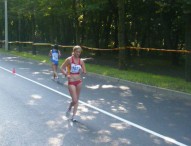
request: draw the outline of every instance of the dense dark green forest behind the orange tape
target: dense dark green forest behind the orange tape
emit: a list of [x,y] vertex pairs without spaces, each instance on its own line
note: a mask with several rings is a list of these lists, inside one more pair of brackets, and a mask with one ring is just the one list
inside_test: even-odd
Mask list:
[[[191,0],[7,0],[9,41],[57,43],[118,49],[119,69],[131,64],[129,47],[156,48],[150,57],[183,58],[191,81]],[[4,0],[0,1],[0,40],[5,39]],[[161,50],[174,50],[164,53]],[[101,55],[101,51],[96,52]],[[139,51],[140,56],[147,51]],[[165,54],[165,55],[164,55]],[[170,54],[170,55],[169,55]],[[163,59],[161,58],[161,59]]]

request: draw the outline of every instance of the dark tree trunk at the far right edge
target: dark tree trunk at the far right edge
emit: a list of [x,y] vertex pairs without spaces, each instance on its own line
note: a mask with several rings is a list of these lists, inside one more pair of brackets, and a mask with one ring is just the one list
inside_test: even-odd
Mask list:
[[[185,42],[186,49],[191,51],[191,13],[185,14],[186,30],[185,30]],[[185,78],[186,81],[191,82],[191,53],[186,54],[185,64]]]

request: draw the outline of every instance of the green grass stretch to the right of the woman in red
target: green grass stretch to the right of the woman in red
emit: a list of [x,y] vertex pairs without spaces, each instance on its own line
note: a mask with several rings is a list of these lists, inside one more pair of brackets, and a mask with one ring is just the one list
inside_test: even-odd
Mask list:
[[156,75],[135,70],[121,71],[111,67],[92,64],[87,64],[86,66],[90,72],[96,72],[98,74],[120,78],[123,80],[191,93],[191,83],[186,82],[181,78],[173,78],[169,76]]

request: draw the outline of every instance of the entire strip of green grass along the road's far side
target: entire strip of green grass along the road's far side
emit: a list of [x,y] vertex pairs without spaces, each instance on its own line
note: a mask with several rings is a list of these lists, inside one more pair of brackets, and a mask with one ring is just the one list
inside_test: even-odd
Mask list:
[[[0,50],[1,53],[11,53],[16,56],[21,56],[28,59],[37,60],[50,64],[50,58],[43,55],[32,55],[31,53],[26,52],[17,52],[17,51],[4,51]],[[62,62],[60,62],[62,63]],[[165,75],[156,75],[136,70],[118,70],[116,68],[94,65],[86,63],[86,68],[88,72],[93,72],[105,76],[111,76],[123,80],[128,80],[132,82],[144,83],[147,85],[157,86],[161,88],[167,88],[171,90],[181,91],[185,93],[191,93],[191,82],[186,82],[184,79],[175,78]]]

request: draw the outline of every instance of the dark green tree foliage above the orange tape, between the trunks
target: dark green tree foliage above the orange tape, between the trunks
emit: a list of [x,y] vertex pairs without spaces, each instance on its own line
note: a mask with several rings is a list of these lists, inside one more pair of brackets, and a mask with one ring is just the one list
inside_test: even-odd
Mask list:
[[[164,28],[167,24],[163,16],[165,20],[169,19],[172,25],[172,28],[169,28],[171,37],[176,38],[177,34],[173,32],[178,31],[181,36],[177,44],[184,43],[182,29],[184,24],[181,22],[183,12],[190,10],[190,0],[124,1],[125,32],[129,44],[164,48],[164,42],[168,41],[164,37]],[[21,41],[38,39],[43,42],[57,41],[72,44],[76,39],[78,44],[85,42],[95,47],[114,47],[118,44],[117,2],[115,0],[9,0],[9,31],[12,34],[10,40],[19,40],[18,33],[29,32],[21,38]],[[0,2],[0,7],[3,8],[3,1]],[[0,19],[3,20],[2,11]],[[18,30],[19,27],[22,29]]]

